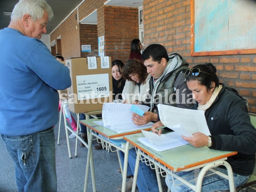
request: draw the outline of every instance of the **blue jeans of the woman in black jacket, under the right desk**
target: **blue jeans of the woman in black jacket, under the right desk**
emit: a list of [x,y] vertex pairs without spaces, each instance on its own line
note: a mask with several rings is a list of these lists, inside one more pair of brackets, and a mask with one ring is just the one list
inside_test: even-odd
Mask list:
[[[226,168],[220,168],[216,167],[214,168],[224,174],[227,174]],[[211,171],[208,171],[212,173]],[[176,174],[185,180],[192,180],[194,178],[194,171],[188,171],[188,172],[176,172]],[[206,173],[207,175],[207,173]],[[234,175],[234,183],[235,187],[238,187],[244,183],[247,182],[249,179],[249,176],[242,176],[238,174],[233,174]],[[169,179],[169,180],[168,180]],[[175,180],[174,184],[172,182],[172,176],[168,174],[168,178],[165,178],[165,182],[168,186],[168,188],[171,190],[171,192],[192,192],[193,190],[189,188],[188,186],[181,184],[180,181]],[[181,184],[181,185],[179,185]],[[194,182],[192,182],[194,184]],[[229,184],[228,180],[217,175],[217,174],[212,174],[210,176],[206,176],[203,179],[202,182],[202,192],[214,192],[214,191],[224,191],[224,190],[229,190]]]

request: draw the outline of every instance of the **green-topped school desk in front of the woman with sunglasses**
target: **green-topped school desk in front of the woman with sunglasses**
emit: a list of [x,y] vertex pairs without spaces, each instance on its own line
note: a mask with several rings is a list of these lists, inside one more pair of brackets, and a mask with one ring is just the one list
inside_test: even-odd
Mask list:
[[[222,177],[227,178],[230,184],[230,191],[234,191],[234,178],[232,168],[230,164],[228,164],[228,162],[225,160],[227,157],[237,154],[237,152],[211,150],[208,147],[194,148],[190,144],[163,152],[158,152],[139,142],[138,138],[140,137],[144,137],[144,135],[142,133],[138,133],[124,136],[124,140],[127,141],[127,144],[134,145],[137,152],[132,192],[134,192],[136,188],[138,165],[140,160],[142,160],[142,162],[146,162],[146,164],[150,165],[151,168],[156,168],[158,187],[160,192],[162,191],[162,185],[159,176],[161,170],[171,174],[173,178],[180,180],[180,182],[186,184],[196,192],[201,191],[202,179],[206,172],[211,170],[215,174],[219,174]],[[222,174],[212,169],[220,165],[227,168],[228,175]],[[195,180],[196,185],[187,182],[174,173],[178,171],[188,171],[195,169],[199,170],[198,168],[202,168],[202,170],[199,172],[197,179]]]

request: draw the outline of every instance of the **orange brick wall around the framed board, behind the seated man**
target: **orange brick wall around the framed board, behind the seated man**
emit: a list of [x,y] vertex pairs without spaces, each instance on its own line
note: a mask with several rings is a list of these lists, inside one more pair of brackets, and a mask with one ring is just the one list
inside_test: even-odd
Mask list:
[[224,55],[192,57],[190,0],[144,0],[144,47],[162,44],[169,54],[178,52],[190,66],[211,62],[218,70],[220,82],[234,87],[248,99],[248,110],[256,113],[256,56]]

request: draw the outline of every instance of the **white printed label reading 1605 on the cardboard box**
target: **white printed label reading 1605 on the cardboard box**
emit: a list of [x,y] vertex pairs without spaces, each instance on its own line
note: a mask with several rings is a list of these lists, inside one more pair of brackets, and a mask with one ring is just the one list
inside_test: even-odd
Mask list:
[[76,76],[78,100],[109,97],[108,74]]

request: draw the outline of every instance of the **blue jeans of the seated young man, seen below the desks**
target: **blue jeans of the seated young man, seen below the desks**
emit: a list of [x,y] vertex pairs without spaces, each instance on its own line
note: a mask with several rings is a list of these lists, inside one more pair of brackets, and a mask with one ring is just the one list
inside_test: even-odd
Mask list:
[[[123,153],[124,154],[124,153]],[[135,163],[136,163],[136,151],[134,148],[129,150],[128,156],[128,169],[132,171],[134,175]],[[124,164],[124,160],[122,160],[122,164]],[[158,184],[156,179],[156,171],[152,170],[150,166],[147,166],[144,162],[140,161],[138,178],[136,182],[138,189],[140,192],[158,192]]]

